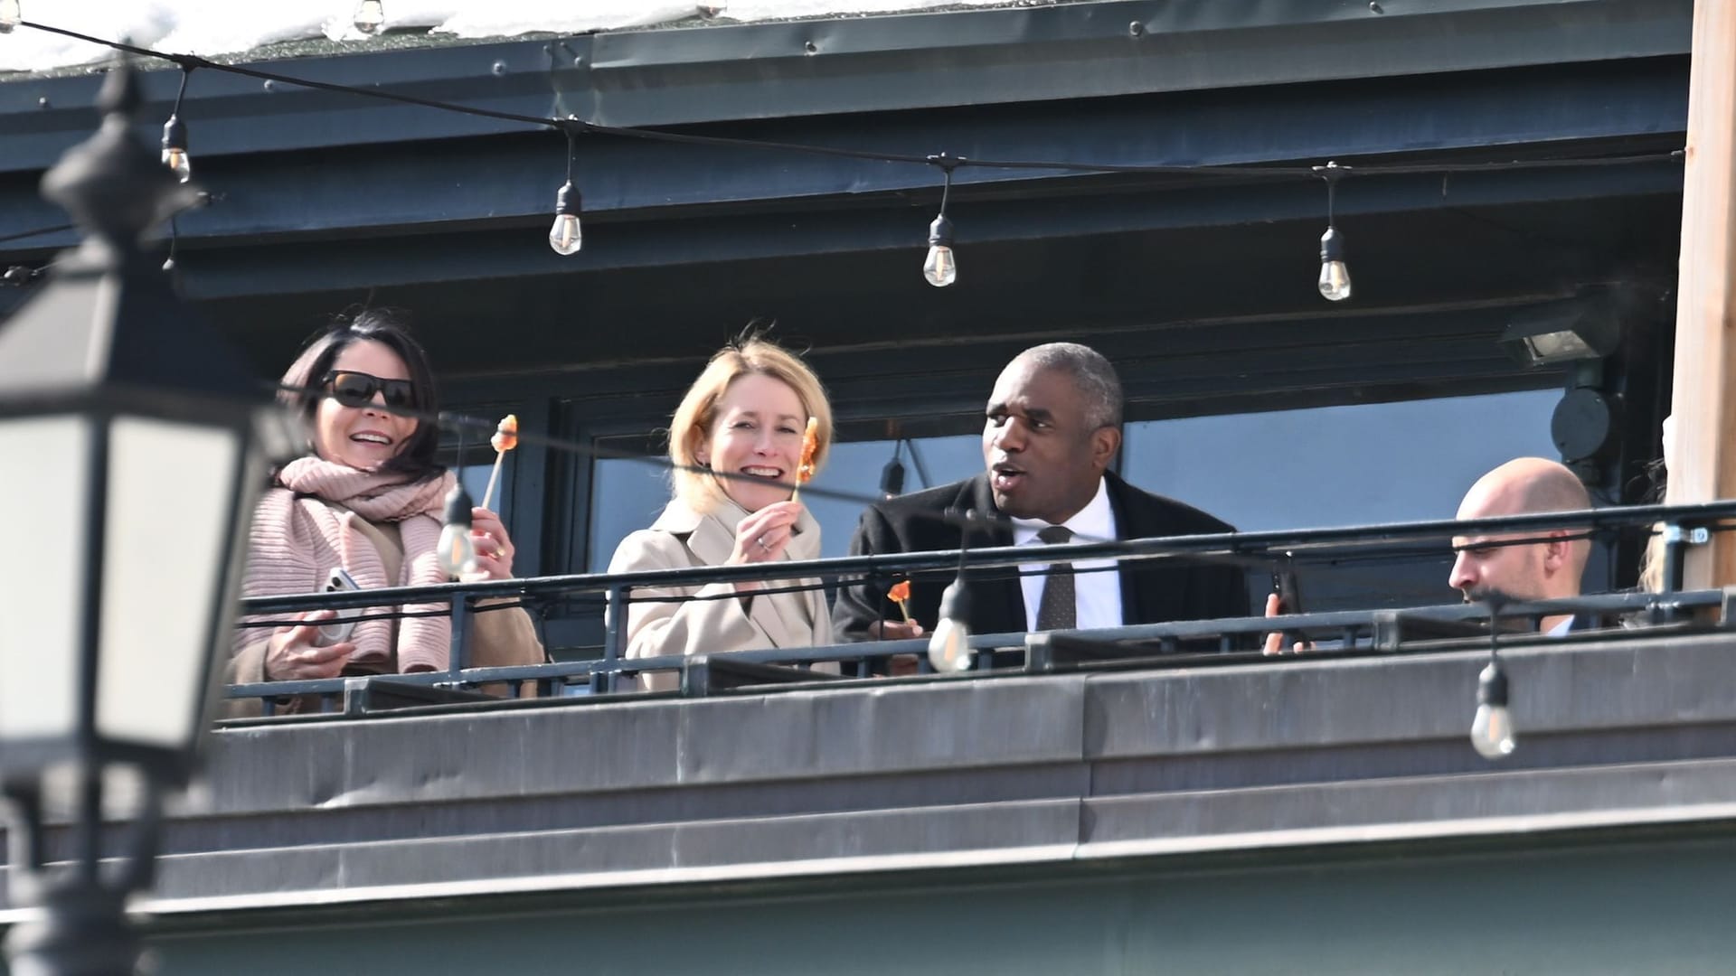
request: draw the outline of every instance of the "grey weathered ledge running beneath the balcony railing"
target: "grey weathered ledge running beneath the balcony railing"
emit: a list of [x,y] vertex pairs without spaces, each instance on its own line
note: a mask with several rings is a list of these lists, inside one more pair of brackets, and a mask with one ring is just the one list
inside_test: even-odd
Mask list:
[[167,825],[158,896],[241,907],[1670,820],[1736,801],[1733,651],[1727,636],[1514,650],[1521,745],[1502,764],[1465,742],[1481,651],[233,729],[198,811]]

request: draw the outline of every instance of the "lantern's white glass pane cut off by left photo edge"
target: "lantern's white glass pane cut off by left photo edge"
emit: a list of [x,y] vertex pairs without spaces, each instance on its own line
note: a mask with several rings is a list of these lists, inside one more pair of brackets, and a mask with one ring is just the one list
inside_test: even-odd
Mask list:
[[92,424],[0,419],[0,740],[71,738],[83,665]]

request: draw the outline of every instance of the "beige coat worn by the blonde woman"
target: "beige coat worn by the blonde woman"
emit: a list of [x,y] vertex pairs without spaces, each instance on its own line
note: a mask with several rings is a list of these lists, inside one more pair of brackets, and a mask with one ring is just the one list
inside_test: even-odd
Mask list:
[[[651,528],[621,540],[609,559],[611,573],[639,570],[674,570],[682,566],[722,566],[734,551],[736,523],[746,512],[724,502],[717,511],[700,514],[684,502],[672,500]],[[819,557],[819,523],[806,511],[795,523],[795,537],[783,559]],[[816,589],[788,594],[755,594],[743,601],[733,584],[703,587],[639,587],[628,601],[627,656],[703,655],[759,648],[814,648],[832,644],[832,615],[819,580],[776,580],[767,585],[809,584]],[[648,601],[646,597],[710,597],[686,601]],[[837,672],[835,665],[825,670]],[[675,688],[674,672],[642,674],[644,688]]]

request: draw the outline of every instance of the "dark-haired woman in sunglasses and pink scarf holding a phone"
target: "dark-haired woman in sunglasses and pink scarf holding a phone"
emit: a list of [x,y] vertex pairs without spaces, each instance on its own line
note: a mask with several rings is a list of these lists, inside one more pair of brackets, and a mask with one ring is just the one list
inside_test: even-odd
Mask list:
[[[243,596],[318,592],[333,568],[361,589],[448,582],[434,549],[455,476],[436,460],[439,412],[422,346],[385,311],[363,311],[316,337],[283,373],[279,398],[307,424],[309,453],[285,464],[253,516]],[[512,575],[512,538],[488,509],[472,511],[477,571]],[[486,606],[486,601],[484,601]],[[403,606],[443,611],[446,603]],[[269,637],[243,629],[229,662],[233,684],[444,670],[448,617],[363,620],[344,639],[321,636],[332,611]],[[523,610],[476,615],[472,667],[540,663],[542,644]],[[240,702],[238,702],[240,705]],[[297,702],[292,700],[292,707]]]

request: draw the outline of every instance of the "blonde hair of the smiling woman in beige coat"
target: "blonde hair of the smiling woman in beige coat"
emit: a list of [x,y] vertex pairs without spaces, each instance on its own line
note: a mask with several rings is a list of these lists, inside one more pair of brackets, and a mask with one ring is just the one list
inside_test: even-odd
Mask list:
[[675,497],[696,512],[708,512],[724,498],[717,478],[696,471],[700,467],[696,450],[712,434],[712,425],[717,422],[717,401],[729,391],[729,384],[748,373],[783,380],[802,401],[802,412],[818,422],[814,432],[819,446],[814,448],[814,471],[825,465],[826,452],[832,450],[832,403],[826,399],[826,389],[819,386],[814,370],[807,368],[807,363],[795,353],[769,339],[755,335],[731,342],[719,349],[705,365],[700,379],[693,380],[668,425],[668,460],[675,464]]

